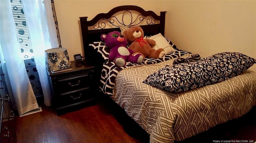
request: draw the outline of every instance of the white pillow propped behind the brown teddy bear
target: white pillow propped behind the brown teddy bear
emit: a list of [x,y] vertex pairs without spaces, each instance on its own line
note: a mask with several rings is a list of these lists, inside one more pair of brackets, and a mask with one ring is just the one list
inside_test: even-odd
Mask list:
[[152,39],[156,41],[156,46],[153,47],[154,49],[164,49],[164,54],[168,54],[170,52],[176,51],[166,40],[166,38],[161,34],[156,34],[151,37],[148,37],[149,39]]

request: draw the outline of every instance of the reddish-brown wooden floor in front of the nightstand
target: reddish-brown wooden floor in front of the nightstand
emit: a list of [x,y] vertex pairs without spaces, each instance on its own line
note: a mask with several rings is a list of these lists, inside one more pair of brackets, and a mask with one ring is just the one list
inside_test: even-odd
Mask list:
[[16,123],[17,143],[140,143],[124,131],[104,104],[61,116],[42,106],[42,112],[18,117]]

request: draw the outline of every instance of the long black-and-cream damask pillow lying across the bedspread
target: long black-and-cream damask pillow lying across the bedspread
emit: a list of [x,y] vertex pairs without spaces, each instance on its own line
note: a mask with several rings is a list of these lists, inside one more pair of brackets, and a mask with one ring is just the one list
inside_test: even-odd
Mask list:
[[182,92],[227,80],[255,63],[255,59],[242,53],[217,53],[198,61],[166,66],[143,82],[170,92]]

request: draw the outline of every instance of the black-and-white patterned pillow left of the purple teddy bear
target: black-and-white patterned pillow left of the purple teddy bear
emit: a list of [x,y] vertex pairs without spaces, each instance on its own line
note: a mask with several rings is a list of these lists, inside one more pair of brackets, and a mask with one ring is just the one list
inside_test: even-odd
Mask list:
[[90,43],[89,46],[92,46],[98,53],[102,55],[102,58],[108,61],[110,49],[106,46],[106,43],[103,41]]

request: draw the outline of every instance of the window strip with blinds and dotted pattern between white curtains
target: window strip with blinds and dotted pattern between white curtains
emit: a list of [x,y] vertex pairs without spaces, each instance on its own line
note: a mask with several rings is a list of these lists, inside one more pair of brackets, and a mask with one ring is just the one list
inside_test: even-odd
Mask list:
[[12,15],[19,38],[20,51],[24,59],[30,59],[34,56],[34,54],[31,47],[28,27],[22,6],[22,0],[10,0],[10,3],[12,6]]

